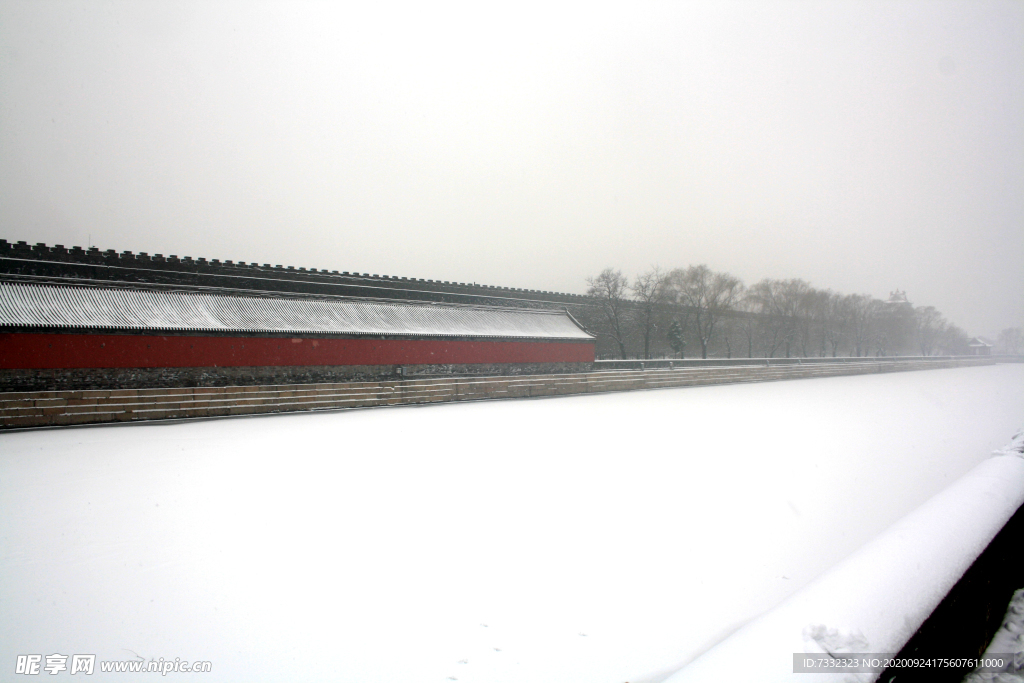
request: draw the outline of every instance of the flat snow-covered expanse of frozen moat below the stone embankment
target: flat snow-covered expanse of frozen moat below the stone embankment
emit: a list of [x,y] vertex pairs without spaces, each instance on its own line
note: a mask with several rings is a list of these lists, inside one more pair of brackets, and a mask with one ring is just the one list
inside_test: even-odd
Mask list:
[[635,682],[1022,423],[1024,366],[995,366],[2,434],[0,671]]

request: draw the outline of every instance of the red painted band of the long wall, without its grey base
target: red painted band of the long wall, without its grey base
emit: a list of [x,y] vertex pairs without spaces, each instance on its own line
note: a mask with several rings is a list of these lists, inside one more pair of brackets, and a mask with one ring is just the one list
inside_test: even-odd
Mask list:
[[591,342],[0,334],[0,369],[591,362]]

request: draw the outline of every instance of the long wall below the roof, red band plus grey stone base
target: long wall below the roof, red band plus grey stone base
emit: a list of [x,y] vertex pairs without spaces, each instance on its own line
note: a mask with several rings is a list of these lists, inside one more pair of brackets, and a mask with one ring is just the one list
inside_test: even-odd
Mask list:
[[581,342],[0,334],[0,392],[574,373],[593,360]]

